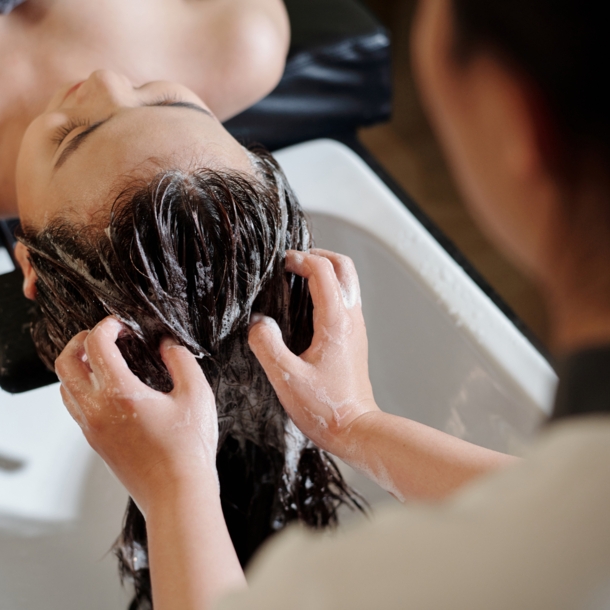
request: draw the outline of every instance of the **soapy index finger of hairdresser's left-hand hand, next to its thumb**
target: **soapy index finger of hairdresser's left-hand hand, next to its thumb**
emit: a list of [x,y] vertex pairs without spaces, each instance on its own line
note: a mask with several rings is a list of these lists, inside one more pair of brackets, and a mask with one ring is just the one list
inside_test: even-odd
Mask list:
[[134,388],[143,390],[143,384],[129,369],[123,354],[116,345],[123,325],[114,317],[104,318],[85,339],[85,352],[89,365],[100,387]]

